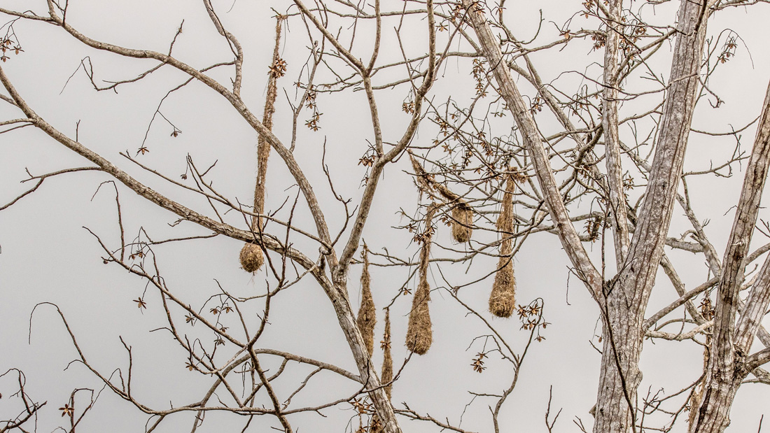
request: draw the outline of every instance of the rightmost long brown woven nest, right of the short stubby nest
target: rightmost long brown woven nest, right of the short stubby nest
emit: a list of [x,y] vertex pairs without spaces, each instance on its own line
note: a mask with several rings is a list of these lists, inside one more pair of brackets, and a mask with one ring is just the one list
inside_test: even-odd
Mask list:
[[500,216],[497,218],[497,229],[503,238],[503,241],[500,242],[500,261],[497,265],[497,273],[494,275],[492,292],[489,295],[489,311],[493,315],[503,318],[511,317],[516,308],[516,277],[514,276],[514,264],[511,257],[515,187],[514,178],[508,176],[503,194],[503,206],[500,209]]

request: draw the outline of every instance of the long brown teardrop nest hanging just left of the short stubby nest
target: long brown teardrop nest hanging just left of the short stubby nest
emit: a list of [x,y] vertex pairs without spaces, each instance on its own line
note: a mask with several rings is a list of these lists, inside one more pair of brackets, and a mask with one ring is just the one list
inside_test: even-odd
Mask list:
[[428,285],[428,261],[430,260],[430,240],[433,237],[431,221],[437,210],[436,205],[430,205],[425,215],[425,234],[423,236],[423,248],[420,249],[419,282],[412,299],[412,311],[409,313],[409,326],[407,327],[407,348],[417,355],[424,355],[433,343],[433,326],[430,324],[430,285]]

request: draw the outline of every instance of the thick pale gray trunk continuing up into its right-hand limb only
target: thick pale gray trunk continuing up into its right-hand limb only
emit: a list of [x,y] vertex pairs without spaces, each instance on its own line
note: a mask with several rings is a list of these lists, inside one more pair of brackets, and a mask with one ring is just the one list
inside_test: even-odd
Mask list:
[[683,1],[671,61],[671,83],[661,118],[661,134],[650,182],[641,205],[634,238],[618,275],[604,283],[600,301],[604,349],[594,433],[625,433],[636,428],[634,408],[641,382],[644,311],[654,286],[695,108],[698,72],[708,19],[707,0]]

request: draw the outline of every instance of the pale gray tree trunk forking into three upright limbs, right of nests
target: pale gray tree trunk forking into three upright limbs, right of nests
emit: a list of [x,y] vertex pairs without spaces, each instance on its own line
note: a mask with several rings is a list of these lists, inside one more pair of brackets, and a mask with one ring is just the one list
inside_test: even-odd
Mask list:
[[[611,188],[611,212],[615,226],[614,245],[618,250],[618,275],[606,282],[602,281],[601,274],[591,264],[577,231],[568,218],[551,165],[544,152],[541,136],[511,76],[511,69],[502,57],[499,42],[491,32],[483,8],[470,0],[464,0],[463,4],[467,8],[467,16],[479,38],[487,62],[494,65],[492,72],[498,84],[498,91],[511,109],[530,152],[538,183],[564,251],[602,311],[604,349],[594,432],[625,433],[631,428],[635,430],[634,401],[641,381],[638,364],[644,335],[644,311],[663,255],[684,163],[692,112],[695,108],[701,52],[709,15],[706,0],[681,2],[670,85],[661,118],[661,134],[658,137],[650,182],[630,243],[627,241],[626,227],[618,228],[618,224],[624,222],[625,212],[618,210],[623,191],[618,171],[617,125],[611,124],[617,122],[617,105],[614,103],[617,92],[614,89],[614,81],[617,79],[618,68],[618,40],[617,34],[613,32],[618,22],[612,21],[612,18],[619,16],[621,1],[611,3],[609,45],[605,51],[605,62],[608,62],[609,71],[605,72],[604,82],[609,88],[604,92],[604,122],[608,123],[605,125],[610,174],[608,184]],[[625,254],[626,248],[628,254]]]

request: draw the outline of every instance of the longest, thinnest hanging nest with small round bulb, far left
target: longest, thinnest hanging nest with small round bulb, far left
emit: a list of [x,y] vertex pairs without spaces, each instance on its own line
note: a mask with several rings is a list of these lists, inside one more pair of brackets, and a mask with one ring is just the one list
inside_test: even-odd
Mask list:
[[[286,62],[280,58],[281,22],[283,17],[278,17],[276,23],[276,46],[273,49],[273,65],[270,66],[269,80],[267,82],[267,98],[265,99],[265,112],[262,123],[265,128],[273,128],[273,113],[276,112],[276,97],[278,95],[276,79],[283,76],[286,70]],[[265,179],[267,175],[267,158],[270,155],[270,144],[263,135],[259,135],[256,145],[257,172],[256,185],[254,185],[254,213],[261,215],[265,212]],[[257,235],[262,233],[261,218],[252,216],[251,230]],[[265,258],[259,245],[247,243],[240,252],[241,267],[246,272],[256,272],[262,267]]]

